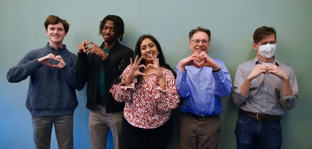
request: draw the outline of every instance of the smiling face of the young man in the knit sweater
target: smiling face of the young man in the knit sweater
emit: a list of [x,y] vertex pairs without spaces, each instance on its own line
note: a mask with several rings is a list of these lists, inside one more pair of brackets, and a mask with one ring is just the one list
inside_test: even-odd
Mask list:
[[58,24],[49,24],[46,35],[49,37],[50,45],[59,45],[59,47],[62,47],[64,37],[67,33],[65,32],[63,24],[60,22]]

